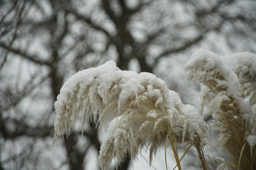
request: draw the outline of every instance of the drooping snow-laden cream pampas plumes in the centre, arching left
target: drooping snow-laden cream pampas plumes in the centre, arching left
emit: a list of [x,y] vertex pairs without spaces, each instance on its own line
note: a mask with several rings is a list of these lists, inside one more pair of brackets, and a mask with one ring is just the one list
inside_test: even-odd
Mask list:
[[83,126],[89,119],[97,124],[111,121],[100,149],[102,169],[109,169],[114,158],[122,163],[125,154],[136,158],[143,147],[149,148],[151,162],[168,133],[177,143],[191,143],[198,150],[208,135],[196,108],[182,104],[163,80],[119,70],[114,61],[73,75],[63,84],[54,107],[54,137],[68,134],[77,118],[82,118]]

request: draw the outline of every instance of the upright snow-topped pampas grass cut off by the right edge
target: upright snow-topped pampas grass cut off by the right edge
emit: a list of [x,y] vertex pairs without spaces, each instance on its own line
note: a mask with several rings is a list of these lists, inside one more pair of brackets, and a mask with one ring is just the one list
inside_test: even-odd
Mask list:
[[219,169],[256,169],[256,55],[236,53],[218,56],[204,49],[191,55],[185,65],[193,79],[202,83],[202,112],[212,109],[219,128],[219,143],[230,162]]

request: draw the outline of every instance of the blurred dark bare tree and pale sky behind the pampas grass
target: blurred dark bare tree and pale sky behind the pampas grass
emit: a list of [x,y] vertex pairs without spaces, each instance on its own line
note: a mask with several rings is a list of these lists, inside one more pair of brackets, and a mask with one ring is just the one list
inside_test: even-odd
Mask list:
[[63,82],[111,59],[155,72],[198,47],[255,53],[255,11],[253,0],[0,1],[0,169],[85,169],[90,148],[100,149],[94,123],[52,146]]

